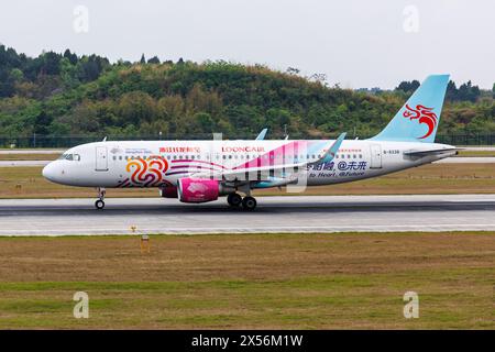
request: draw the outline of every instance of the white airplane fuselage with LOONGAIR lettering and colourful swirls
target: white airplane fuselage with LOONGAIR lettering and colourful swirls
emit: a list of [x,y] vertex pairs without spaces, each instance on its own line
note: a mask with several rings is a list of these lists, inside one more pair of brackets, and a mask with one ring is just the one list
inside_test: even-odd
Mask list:
[[[230,170],[253,160],[274,158],[271,151],[294,141],[120,141],[78,145],[65,158],[50,163],[43,175],[58,184],[81,187],[162,187],[201,170]],[[317,161],[329,141],[305,141],[308,148],[290,155],[290,164]],[[443,150],[426,156],[405,153]],[[447,151],[449,150],[450,151]],[[295,152],[294,152],[295,154]],[[344,141],[332,162],[308,168],[307,185],[348,183],[428,164],[454,155],[452,146],[438,143]],[[156,162],[153,160],[156,158]],[[147,161],[143,174],[140,163]],[[150,162],[151,161],[151,162]],[[160,164],[162,163],[162,164]],[[166,164],[166,165],[164,165]],[[153,170],[154,169],[154,170]],[[161,173],[161,175],[158,175]],[[160,179],[157,179],[160,178]]]

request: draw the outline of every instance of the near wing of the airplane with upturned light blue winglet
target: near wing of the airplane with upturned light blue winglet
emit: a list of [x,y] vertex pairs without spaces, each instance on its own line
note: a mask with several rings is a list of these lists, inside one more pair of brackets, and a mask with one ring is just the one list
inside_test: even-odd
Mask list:
[[[339,151],[343,140],[345,139],[345,132],[340,134],[339,138],[333,142],[329,143],[328,148],[326,153],[318,160],[312,162],[302,162],[302,163],[290,163],[290,164],[274,164],[274,165],[266,165],[266,166],[257,166],[257,167],[242,167],[242,168],[233,168],[233,169],[226,169],[221,172],[201,172],[194,174],[191,176],[194,177],[211,177],[213,176],[217,179],[224,179],[224,180],[241,180],[246,179],[246,174],[253,174],[253,173],[264,173],[264,174],[272,174],[274,172],[278,172],[278,177],[283,179],[287,179],[287,183],[290,182],[292,174],[288,170],[297,172],[306,166],[318,164],[318,163],[324,163],[324,162],[331,162],[337,152]],[[251,178],[251,177],[250,177]]]

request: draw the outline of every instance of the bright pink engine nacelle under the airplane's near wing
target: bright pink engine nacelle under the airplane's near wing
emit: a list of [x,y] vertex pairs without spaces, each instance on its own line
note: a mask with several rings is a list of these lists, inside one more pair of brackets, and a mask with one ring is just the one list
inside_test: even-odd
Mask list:
[[218,199],[220,182],[204,178],[180,178],[177,180],[178,198],[183,202],[206,202]]

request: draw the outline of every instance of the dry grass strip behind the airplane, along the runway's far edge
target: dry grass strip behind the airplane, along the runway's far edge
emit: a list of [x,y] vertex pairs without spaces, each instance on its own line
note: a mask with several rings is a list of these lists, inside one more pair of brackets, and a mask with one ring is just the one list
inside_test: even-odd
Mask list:
[[[92,188],[61,186],[41,175],[42,167],[0,167],[0,198],[95,197]],[[430,164],[378,178],[310,187],[304,194],[257,190],[256,195],[414,195],[494,194],[494,164]],[[109,189],[108,197],[155,197],[153,189]]]

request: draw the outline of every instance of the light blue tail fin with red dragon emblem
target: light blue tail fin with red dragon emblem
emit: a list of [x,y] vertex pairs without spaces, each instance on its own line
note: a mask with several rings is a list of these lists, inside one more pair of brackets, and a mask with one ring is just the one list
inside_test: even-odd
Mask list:
[[431,75],[374,141],[433,143],[440,123],[449,75]]

